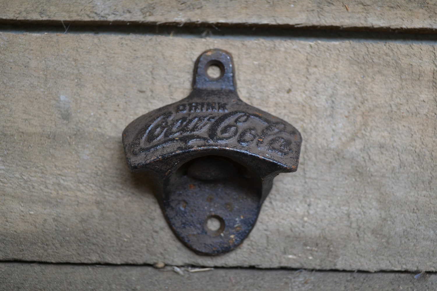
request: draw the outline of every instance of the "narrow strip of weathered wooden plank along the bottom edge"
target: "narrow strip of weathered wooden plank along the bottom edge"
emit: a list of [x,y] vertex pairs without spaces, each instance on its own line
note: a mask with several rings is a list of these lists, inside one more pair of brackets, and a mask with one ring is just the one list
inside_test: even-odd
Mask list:
[[436,290],[437,275],[0,263],[0,290]]

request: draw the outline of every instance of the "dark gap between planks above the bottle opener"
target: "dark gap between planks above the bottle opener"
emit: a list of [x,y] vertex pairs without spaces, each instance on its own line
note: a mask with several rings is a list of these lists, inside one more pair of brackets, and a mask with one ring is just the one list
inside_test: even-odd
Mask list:
[[143,34],[182,38],[296,39],[304,41],[437,42],[437,31],[389,27],[296,26],[271,24],[143,23],[132,21],[15,21],[0,19],[0,31],[36,34]]

